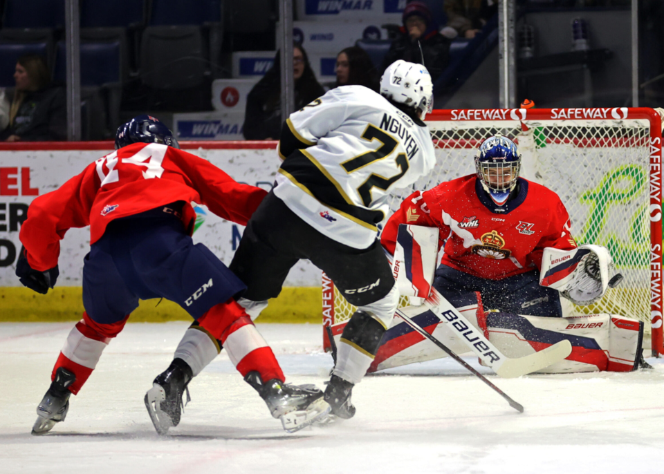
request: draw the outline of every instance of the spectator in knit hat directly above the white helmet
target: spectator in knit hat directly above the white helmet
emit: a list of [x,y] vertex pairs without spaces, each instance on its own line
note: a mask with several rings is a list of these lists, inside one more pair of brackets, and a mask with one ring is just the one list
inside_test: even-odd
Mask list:
[[412,1],[406,5],[403,28],[399,29],[399,33],[383,59],[382,70],[397,59],[403,59],[424,64],[432,81],[436,82],[448,65],[450,40],[438,32],[438,25],[424,2]]

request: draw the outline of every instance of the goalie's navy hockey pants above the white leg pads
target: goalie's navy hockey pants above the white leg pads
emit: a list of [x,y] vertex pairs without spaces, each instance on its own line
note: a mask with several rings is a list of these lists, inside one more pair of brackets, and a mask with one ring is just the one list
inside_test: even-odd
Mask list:
[[557,290],[540,286],[540,272],[537,270],[502,280],[487,280],[439,265],[434,288],[448,299],[468,292],[480,292],[484,310],[562,317]]

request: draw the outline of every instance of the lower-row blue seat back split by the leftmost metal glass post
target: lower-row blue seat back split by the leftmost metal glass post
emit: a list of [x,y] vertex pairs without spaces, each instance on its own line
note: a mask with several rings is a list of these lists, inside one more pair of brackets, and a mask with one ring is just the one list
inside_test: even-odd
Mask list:
[[[101,86],[122,81],[120,68],[120,41],[100,41],[81,43],[81,85]],[[53,77],[64,81],[66,56],[64,41],[55,47],[55,71]]]

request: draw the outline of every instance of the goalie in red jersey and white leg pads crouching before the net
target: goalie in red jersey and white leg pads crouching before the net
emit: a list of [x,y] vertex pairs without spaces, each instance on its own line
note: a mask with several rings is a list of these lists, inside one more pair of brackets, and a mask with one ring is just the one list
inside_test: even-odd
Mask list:
[[[557,194],[519,177],[521,156],[511,140],[485,140],[475,165],[477,174],[416,191],[389,218],[381,243],[393,256],[400,293],[421,302],[434,288],[506,357],[571,343],[569,356],[538,372],[647,366],[642,322],[615,314],[562,315],[560,296],[590,305],[620,283],[607,249],[577,247]],[[454,352],[468,352],[468,341],[430,306],[403,312]],[[445,355],[395,316],[370,371]]]

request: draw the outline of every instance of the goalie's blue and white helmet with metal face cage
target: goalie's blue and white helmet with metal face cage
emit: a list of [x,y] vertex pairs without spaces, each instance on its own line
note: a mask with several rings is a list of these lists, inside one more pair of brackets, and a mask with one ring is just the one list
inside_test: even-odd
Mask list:
[[487,192],[511,191],[521,171],[521,155],[517,146],[500,134],[487,138],[475,156],[475,171]]

